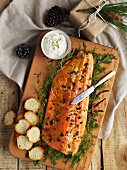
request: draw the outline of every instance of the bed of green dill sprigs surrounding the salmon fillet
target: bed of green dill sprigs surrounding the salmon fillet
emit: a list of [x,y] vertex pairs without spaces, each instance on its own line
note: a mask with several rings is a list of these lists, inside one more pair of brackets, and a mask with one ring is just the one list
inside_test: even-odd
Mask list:
[[[53,79],[55,75],[63,68],[63,65],[66,61],[70,60],[71,58],[75,57],[76,54],[83,50],[85,53],[88,53],[86,51],[86,45],[83,43],[84,49],[81,49],[81,46],[79,48],[75,48],[69,53],[65,58],[59,60],[56,65],[53,63],[49,64],[48,70],[50,70],[50,74],[47,75],[47,77],[44,80],[44,84],[41,87],[40,84],[38,85],[37,94],[39,100],[41,100],[41,108],[38,111],[38,116],[40,119],[40,122],[37,124],[37,126],[42,130],[43,129],[43,120],[44,120],[44,113],[45,108],[48,101],[48,96],[50,93],[51,86],[53,86]],[[106,70],[105,67],[103,67],[101,64],[106,63],[110,64],[113,59],[115,59],[115,56],[111,54],[98,54],[93,50],[90,52],[93,54],[94,57],[94,70],[93,70],[93,78],[92,78],[92,84],[97,83],[100,80],[100,74]],[[40,78],[42,74],[37,75],[37,79]],[[40,81],[37,81],[40,83]],[[104,89],[104,85],[100,85],[96,88],[97,90]],[[47,159],[51,160],[51,163],[55,165],[58,160],[63,160],[63,162],[71,162],[71,167],[73,168],[74,165],[80,161],[81,157],[87,153],[87,150],[90,149],[92,145],[94,145],[94,138],[96,138],[95,135],[92,134],[92,130],[95,128],[98,128],[97,123],[97,116],[99,114],[99,111],[94,110],[93,104],[99,99],[99,97],[96,94],[90,95],[90,102],[89,102],[89,109],[88,109],[88,118],[86,123],[86,131],[84,136],[82,137],[82,141],[80,143],[78,152],[72,156],[71,153],[68,155],[63,154],[60,151],[57,151],[50,146],[46,145],[43,141],[40,141],[39,143],[36,143],[36,146],[41,146],[42,143],[44,143],[44,159],[42,160],[45,162]],[[102,112],[102,111],[101,111]],[[59,113],[57,113],[59,114]],[[34,165],[39,166],[40,161],[34,161]]]

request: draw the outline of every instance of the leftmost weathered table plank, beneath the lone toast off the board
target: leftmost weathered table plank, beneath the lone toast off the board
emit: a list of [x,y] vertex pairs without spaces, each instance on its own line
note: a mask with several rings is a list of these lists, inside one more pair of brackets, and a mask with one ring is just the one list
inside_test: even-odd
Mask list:
[[3,123],[4,114],[10,110],[18,110],[18,87],[0,73],[0,169],[17,169],[18,159],[10,155],[8,150],[12,127]]

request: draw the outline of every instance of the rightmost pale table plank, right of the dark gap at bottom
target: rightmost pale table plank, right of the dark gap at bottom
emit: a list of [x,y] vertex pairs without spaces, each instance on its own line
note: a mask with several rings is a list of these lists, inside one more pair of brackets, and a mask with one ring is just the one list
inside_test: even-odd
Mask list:
[[105,170],[127,169],[127,96],[115,112],[112,132],[103,141]]

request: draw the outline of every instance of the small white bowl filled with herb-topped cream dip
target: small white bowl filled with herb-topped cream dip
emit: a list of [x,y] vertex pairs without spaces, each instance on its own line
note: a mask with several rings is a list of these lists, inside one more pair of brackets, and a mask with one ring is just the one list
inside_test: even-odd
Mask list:
[[44,54],[51,59],[63,58],[68,51],[68,39],[66,36],[64,32],[59,30],[47,33],[42,41]]

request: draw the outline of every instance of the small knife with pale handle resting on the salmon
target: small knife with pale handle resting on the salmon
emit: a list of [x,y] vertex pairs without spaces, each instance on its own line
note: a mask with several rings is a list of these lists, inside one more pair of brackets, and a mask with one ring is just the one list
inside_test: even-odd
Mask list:
[[83,99],[85,99],[87,96],[89,96],[95,90],[96,87],[98,87],[99,85],[104,83],[106,80],[110,79],[115,74],[116,74],[115,71],[112,71],[111,73],[109,73],[107,76],[105,76],[103,79],[101,79],[97,84],[91,86],[89,89],[85,90],[84,92],[82,92],[81,94],[76,96],[73,99],[73,101],[71,102],[71,104],[78,104],[79,102],[81,102]]

